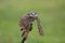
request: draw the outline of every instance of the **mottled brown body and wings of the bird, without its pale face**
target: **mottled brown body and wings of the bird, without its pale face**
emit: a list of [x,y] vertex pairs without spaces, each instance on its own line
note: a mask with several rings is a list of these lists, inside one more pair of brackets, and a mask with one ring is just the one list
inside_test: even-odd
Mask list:
[[43,35],[43,30],[42,30],[42,27],[40,25],[40,20],[39,20],[38,16],[34,17],[34,16],[30,16],[30,13],[28,13],[27,15],[22,16],[21,19],[20,19],[21,31],[23,31],[22,43],[25,42],[25,40],[27,39],[27,35],[28,35],[29,31],[31,31],[31,29],[32,29],[32,23],[31,22],[34,22],[34,20],[37,20],[37,26],[38,26],[40,35]]

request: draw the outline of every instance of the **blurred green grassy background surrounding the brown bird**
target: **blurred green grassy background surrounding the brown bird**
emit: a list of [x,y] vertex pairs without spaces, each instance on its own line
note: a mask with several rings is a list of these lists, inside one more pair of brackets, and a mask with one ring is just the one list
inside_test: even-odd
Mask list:
[[32,10],[44,35],[39,35],[34,22],[26,43],[65,43],[65,0],[0,0],[0,43],[21,43],[20,17]]

